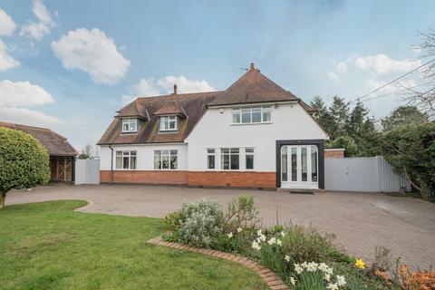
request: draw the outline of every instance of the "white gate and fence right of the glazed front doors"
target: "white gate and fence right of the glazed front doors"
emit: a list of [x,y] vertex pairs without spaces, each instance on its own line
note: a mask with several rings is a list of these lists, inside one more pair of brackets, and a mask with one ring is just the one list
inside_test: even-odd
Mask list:
[[401,192],[411,190],[409,182],[391,165],[377,157],[325,158],[324,188],[327,190]]

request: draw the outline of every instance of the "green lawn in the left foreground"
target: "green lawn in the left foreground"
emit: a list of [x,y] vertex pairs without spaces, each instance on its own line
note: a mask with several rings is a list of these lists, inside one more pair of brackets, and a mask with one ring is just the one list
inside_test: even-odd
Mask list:
[[145,243],[161,219],[73,211],[85,204],[0,210],[0,289],[266,289],[245,267]]

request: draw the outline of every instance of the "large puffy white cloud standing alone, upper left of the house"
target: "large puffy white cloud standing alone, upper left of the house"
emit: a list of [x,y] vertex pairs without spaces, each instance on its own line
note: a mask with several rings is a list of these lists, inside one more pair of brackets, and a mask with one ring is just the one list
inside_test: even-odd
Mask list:
[[131,62],[118,51],[113,39],[97,28],[70,31],[53,42],[52,49],[63,67],[89,73],[96,83],[115,84],[131,66]]

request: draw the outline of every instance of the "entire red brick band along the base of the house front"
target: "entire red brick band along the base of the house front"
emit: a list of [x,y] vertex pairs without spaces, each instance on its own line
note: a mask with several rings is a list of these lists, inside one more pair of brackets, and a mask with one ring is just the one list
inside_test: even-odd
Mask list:
[[[101,170],[100,181],[111,182],[111,171]],[[114,170],[113,182],[194,187],[276,188],[275,172]]]

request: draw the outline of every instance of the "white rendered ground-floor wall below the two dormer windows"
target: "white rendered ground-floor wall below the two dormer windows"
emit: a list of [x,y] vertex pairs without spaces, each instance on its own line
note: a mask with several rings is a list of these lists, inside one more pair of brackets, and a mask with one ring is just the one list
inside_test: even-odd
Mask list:
[[[178,150],[178,170],[188,169],[188,145],[187,144],[161,144],[161,145],[112,145],[113,148],[113,169],[116,164],[117,150],[136,150],[137,151],[137,170],[154,170],[154,150]],[[111,169],[111,149],[109,146],[101,146],[100,150],[100,170]]]

